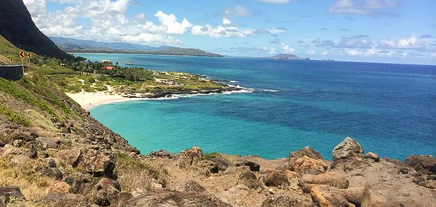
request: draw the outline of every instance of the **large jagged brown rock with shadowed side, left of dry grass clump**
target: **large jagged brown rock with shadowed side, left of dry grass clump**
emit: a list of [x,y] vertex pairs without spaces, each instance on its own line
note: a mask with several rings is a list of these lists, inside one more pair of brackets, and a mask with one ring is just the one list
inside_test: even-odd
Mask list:
[[97,152],[94,149],[82,150],[82,163],[85,171],[93,176],[112,177],[115,168],[115,155],[110,151]]

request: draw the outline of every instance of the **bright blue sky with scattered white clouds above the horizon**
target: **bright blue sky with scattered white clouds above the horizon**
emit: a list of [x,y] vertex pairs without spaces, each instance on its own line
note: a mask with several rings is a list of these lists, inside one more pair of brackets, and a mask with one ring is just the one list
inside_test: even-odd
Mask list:
[[23,0],[47,36],[436,64],[436,0]]

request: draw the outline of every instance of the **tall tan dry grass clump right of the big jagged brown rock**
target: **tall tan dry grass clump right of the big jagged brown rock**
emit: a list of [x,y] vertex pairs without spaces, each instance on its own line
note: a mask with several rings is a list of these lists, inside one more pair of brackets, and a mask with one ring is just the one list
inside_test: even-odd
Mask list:
[[167,169],[155,162],[132,159],[125,154],[118,153],[115,166],[118,182],[123,191],[149,191],[153,188],[153,179],[162,186],[167,184]]

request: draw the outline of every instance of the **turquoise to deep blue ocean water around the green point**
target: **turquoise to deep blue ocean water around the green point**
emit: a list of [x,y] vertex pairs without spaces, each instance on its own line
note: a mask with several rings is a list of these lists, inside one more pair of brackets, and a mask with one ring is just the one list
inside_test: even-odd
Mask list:
[[310,145],[325,159],[346,136],[381,157],[436,155],[436,66],[155,55],[78,54],[146,69],[236,80],[254,91],[134,100],[91,115],[146,154],[203,151],[287,157]]

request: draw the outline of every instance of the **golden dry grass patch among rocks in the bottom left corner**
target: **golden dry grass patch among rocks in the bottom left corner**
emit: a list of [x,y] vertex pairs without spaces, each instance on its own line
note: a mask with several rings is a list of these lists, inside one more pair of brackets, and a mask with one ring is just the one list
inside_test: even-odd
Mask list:
[[[13,165],[9,159],[8,157],[0,158],[0,186],[20,187],[27,202],[16,201],[15,203],[18,203],[18,206],[35,206],[36,204],[33,203],[37,203],[45,197],[44,191],[47,187],[57,181],[33,170],[34,167],[44,164],[40,159],[31,160],[22,166]],[[16,205],[15,203],[11,203],[11,207]]]

